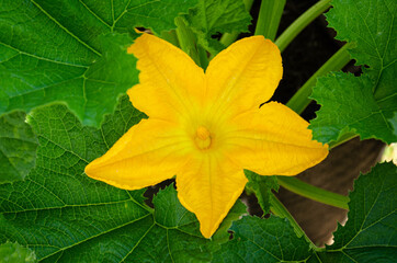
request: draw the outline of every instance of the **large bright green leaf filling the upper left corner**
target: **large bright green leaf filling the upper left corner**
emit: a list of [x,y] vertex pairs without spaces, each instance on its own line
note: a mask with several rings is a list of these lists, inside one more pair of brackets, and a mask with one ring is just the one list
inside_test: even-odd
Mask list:
[[196,0],[4,0],[0,5],[0,114],[63,101],[99,126],[137,82],[135,26],[160,33]]

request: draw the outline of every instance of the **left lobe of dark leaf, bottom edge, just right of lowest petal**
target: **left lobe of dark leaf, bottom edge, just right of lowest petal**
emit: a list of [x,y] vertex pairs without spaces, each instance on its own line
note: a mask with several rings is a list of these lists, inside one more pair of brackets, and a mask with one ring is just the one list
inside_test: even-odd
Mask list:
[[297,238],[287,219],[271,216],[269,219],[243,217],[231,230],[234,240],[214,254],[214,263],[220,262],[285,262],[310,258],[309,244]]

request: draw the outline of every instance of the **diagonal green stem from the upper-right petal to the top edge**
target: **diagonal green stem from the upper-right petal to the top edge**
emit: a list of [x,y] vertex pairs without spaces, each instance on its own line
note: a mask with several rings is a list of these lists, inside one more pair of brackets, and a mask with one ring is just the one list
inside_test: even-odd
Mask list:
[[297,20],[295,20],[275,41],[280,50],[283,52],[290,43],[297,36],[308,24],[311,23],[318,15],[324,13],[329,7],[331,0],[320,0]]

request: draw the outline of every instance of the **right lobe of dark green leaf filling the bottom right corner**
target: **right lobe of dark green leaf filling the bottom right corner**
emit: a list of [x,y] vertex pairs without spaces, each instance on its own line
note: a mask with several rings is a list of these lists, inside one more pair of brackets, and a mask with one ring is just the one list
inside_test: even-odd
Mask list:
[[[397,167],[377,164],[361,175],[350,194],[348,222],[334,232],[327,250],[348,262],[393,262],[397,249]],[[319,254],[322,258],[322,254]],[[330,256],[327,254],[327,256]],[[373,259],[373,260],[371,260]]]

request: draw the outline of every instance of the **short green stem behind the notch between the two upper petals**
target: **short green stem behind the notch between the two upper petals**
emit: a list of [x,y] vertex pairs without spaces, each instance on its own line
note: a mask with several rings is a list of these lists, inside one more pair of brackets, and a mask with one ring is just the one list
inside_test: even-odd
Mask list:
[[182,50],[185,52],[195,64],[205,69],[208,66],[208,58],[205,50],[197,45],[197,39],[192,30],[185,25],[181,16],[175,19],[175,25],[179,45]]

